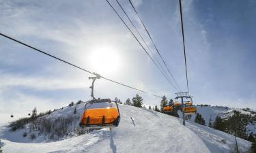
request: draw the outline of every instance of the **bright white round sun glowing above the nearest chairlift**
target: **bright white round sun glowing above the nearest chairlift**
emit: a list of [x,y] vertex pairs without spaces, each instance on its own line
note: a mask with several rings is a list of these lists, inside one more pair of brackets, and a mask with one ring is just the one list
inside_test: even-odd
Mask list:
[[117,50],[104,46],[91,50],[89,63],[94,72],[100,73],[100,75],[109,75],[120,70],[122,60]]

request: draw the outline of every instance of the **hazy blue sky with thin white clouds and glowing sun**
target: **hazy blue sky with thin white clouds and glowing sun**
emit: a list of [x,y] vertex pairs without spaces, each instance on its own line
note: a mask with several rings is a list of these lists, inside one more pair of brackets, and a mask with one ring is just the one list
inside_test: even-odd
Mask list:
[[[177,84],[186,91],[177,1],[133,2]],[[124,18],[117,3],[111,3]],[[120,3],[154,50],[128,1]],[[256,1],[182,3],[194,103],[255,109]],[[0,10],[1,33],[118,82],[168,98],[177,92],[104,0],[0,1]],[[160,60],[155,50],[152,55]],[[25,116],[33,107],[40,112],[90,99],[89,76],[0,37],[0,122],[10,121],[12,113],[15,118]],[[137,93],[145,104],[160,101],[105,80],[96,82],[97,97],[125,101]]]

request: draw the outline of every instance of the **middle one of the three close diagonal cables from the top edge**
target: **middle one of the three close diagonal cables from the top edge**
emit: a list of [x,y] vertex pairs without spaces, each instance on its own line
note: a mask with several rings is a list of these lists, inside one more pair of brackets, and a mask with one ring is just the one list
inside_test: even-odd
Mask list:
[[[134,29],[137,31],[137,33],[139,34],[139,36],[141,37],[143,43],[145,44],[145,46],[147,46],[147,49],[150,50],[151,54],[152,54],[152,58],[154,57],[154,53],[152,52],[152,50],[150,49],[150,47],[147,45],[147,43],[145,42],[145,39],[143,39],[143,37],[141,36],[141,33],[138,31],[137,27],[135,27],[135,25],[133,24],[132,20],[130,20],[130,17],[128,16],[128,14],[126,14],[126,11],[124,10],[124,8],[122,7],[122,5],[119,3],[118,0],[117,1],[119,7],[121,7],[122,11],[124,12],[124,14],[126,15],[126,17],[128,18],[128,20],[130,21],[130,23],[132,24],[132,27],[134,27]],[[169,77],[169,75],[167,74],[167,72],[165,71],[165,69],[162,67],[162,65],[159,63],[158,59],[156,58],[156,62],[158,63],[158,65],[160,65],[160,68],[162,69],[162,71],[165,73],[166,77],[168,78],[169,82],[171,82],[171,78]],[[175,88],[177,90],[177,88],[173,85],[173,83],[171,83],[171,85],[173,86],[173,88]]]

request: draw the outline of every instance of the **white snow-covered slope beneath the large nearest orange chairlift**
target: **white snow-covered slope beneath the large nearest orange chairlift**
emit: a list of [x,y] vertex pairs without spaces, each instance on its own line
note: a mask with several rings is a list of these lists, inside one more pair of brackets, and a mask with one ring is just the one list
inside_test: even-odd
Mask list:
[[[83,112],[84,103],[65,107],[53,112],[48,118],[72,116]],[[66,137],[60,141],[47,142],[44,136],[34,140],[24,138],[22,132],[9,132],[1,126],[0,139],[3,152],[229,152],[235,138],[232,135],[201,126],[194,122],[182,125],[175,118],[149,109],[119,105],[121,121],[113,131],[101,129],[77,137]],[[134,118],[134,122],[130,118]],[[71,126],[78,126],[72,124]],[[250,142],[238,138],[241,150]]]

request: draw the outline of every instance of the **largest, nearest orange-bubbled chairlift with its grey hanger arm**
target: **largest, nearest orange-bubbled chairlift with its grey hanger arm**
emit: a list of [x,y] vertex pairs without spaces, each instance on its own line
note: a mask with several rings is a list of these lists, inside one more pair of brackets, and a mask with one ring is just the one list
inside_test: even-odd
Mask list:
[[103,127],[116,127],[120,121],[120,114],[117,101],[111,99],[96,99],[94,97],[94,82],[100,79],[100,75],[89,77],[92,79],[91,97],[92,100],[85,104],[85,111],[81,116],[79,125],[87,129],[98,129]]

